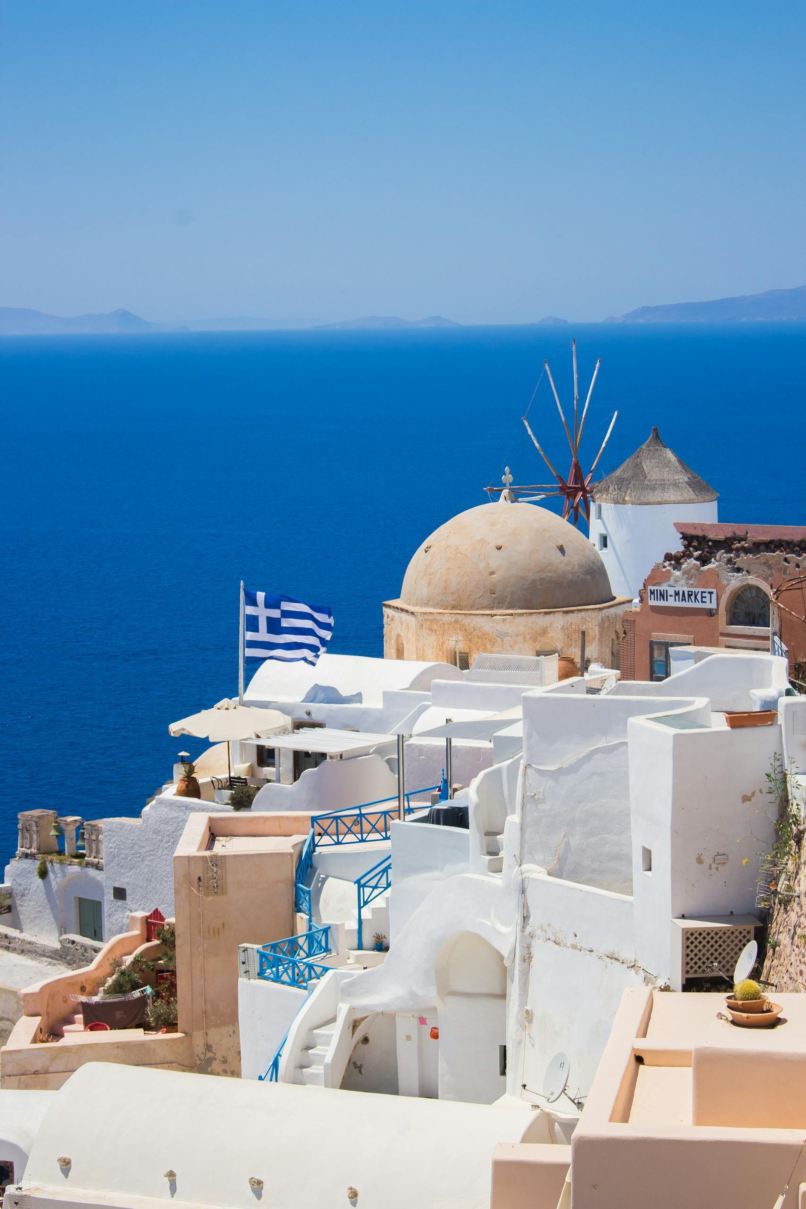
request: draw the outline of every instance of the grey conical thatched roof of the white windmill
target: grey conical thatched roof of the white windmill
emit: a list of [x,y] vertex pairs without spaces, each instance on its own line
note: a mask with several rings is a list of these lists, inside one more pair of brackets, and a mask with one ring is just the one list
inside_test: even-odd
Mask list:
[[663,444],[657,428],[617,470],[593,484],[591,496],[597,504],[700,504],[717,499],[713,487]]

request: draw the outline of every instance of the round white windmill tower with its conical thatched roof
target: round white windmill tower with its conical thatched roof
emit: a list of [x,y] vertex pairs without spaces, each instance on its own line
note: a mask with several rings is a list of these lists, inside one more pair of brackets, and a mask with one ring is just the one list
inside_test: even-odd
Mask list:
[[675,521],[717,521],[717,492],[661,440],[649,440],[592,488],[591,542],[616,596],[638,596],[650,567],[680,548]]

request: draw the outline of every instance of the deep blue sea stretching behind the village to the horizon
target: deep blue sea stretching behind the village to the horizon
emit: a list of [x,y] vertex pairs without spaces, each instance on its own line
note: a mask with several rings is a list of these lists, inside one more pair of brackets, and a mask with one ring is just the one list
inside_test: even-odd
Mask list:
[[[572,335],[602,473],[657,424],[723,520],[806,522],[801,324],[2,339],[0,860],[18,810],[141,810],[169,722],[237,693],[242,578],[382,654],[423,538],[544,481],[521,416],[544,357],[570,400]],[[567,469],[545,378],[529,422]]]

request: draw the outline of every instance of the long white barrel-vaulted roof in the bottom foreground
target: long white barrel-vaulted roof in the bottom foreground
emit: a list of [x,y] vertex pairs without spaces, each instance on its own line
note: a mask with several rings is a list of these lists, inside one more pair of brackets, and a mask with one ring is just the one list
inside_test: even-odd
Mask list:
[[[688,996],[686,996],[688,997]],[[6,1093],[2,1093],[4,1095]],[[30,1092],[18,1092],[19,1097]],[[37,1197],[74,1204],[367,1209],[489,1203],[497,1143],[520,1141],[528,1104],[259,1083],[88,1063],[50,1101],[25,1170]],[[58,1156],[73,1162],[69,1185]],[[140,1199],[143,1198],[143,1199]]]

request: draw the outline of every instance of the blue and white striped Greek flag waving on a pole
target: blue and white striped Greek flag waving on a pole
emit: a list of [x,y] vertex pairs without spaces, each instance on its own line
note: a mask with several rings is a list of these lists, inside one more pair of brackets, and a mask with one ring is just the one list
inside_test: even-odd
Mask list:
[[327,649],[334,632],[334,614],[326,604],[303,604],[290,596],[250,592],[245,588],[243,595],[247,659],[315,664]]

